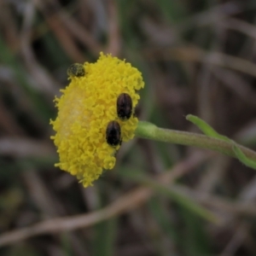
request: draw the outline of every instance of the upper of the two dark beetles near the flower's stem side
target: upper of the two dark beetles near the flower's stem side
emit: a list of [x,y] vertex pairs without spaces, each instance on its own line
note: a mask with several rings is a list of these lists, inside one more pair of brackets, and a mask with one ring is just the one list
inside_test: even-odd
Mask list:
[[127,120],[131,118],[132,100],[128,93],[121,93],[116,102],[119,119]]

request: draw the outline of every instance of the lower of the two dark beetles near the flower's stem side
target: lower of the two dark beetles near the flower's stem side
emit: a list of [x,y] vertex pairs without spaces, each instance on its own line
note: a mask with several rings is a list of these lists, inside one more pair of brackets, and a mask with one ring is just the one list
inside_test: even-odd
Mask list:
[[106,140],[108,145],[117,146],[121,145],[121,128],[117,121],[111,121],[108,123],[107,131],[106,131]]

